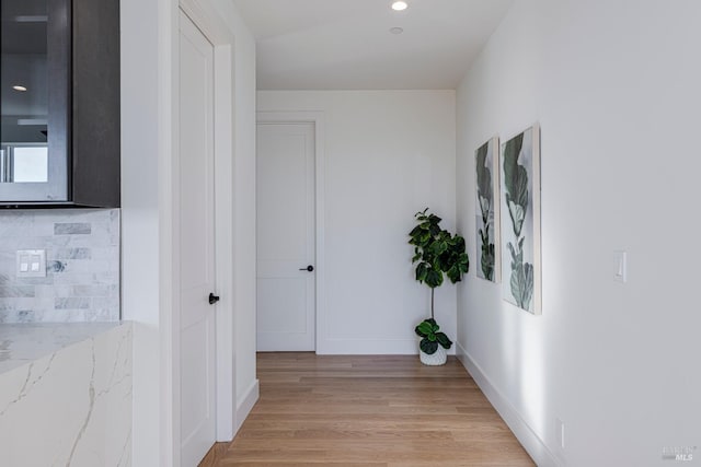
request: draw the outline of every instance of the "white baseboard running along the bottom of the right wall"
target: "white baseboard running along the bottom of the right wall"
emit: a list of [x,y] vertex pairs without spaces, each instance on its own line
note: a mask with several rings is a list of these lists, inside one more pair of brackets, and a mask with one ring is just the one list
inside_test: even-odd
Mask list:
[[521,443],[526,452],[540,467],[558,467],[561,463],[545,446],[543,441],[536,434],[530,425],[524,420],[516,408],[504,397],[504,395],[492,384],[489,376],[484,374],[479,364],[472,360],[470,354],[460,343],[456,343],[457,355],[474,382],[480,386],[482,393],[494,406],[498,415],[504,419],[508,428],[514,432],[516,439]]

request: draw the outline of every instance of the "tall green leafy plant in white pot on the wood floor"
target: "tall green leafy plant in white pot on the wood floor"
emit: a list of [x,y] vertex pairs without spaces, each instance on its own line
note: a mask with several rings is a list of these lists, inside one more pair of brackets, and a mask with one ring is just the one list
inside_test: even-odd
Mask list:
[[430,318],[416,326],[416,335],[421,337],[418,353],[421,361],[427,365],[446,363],[446,350],[452,341],[436,323],[434,295],[437,287],[447,276],[450,282],[462,280],[462,275],[470,268],[470,259],[466,252],[464,238],[440,227],[441,219],[428,212],[428,208],[414,214],[417,225],[409,233],[410,245],[414,246],[412,264],[416,265],[416,280],[430,288]]

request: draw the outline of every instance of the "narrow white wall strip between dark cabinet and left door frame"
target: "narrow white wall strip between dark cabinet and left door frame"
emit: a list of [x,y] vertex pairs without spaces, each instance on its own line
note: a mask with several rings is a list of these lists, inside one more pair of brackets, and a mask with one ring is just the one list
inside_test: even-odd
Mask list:
[[158,466],[160,420],[159,7],[120,1],[122,317],[134,322],[134,466]]

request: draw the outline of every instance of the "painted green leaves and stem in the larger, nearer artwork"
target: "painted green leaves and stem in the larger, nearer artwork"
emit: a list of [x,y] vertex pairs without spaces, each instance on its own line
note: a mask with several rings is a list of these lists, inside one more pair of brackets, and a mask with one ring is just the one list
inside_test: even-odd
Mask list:
[[524,133],[508,141],[504,148],[504,186],[506,206],[512,219],[516,244],[508,242],[512,254],[512,278],[509,285],[516,304],[528,310],[533,295],[533,265],[524,262],[524,236],[521,230],[528,212],[528,172],[518,163],[524,145]]

